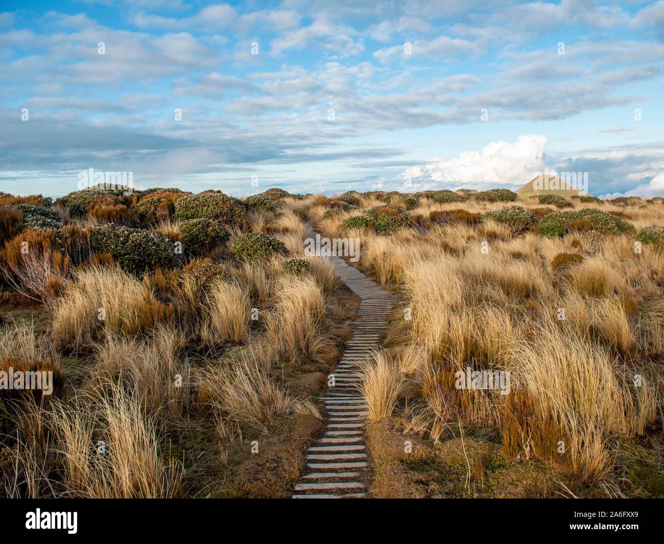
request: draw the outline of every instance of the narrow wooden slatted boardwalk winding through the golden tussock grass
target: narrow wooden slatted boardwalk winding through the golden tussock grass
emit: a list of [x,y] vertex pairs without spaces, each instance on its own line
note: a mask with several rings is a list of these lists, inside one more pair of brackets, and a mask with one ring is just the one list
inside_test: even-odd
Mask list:
[[307,473],[295,485],[293,499],[359,499],[369,497],[371,464],[366,445],[367,404],[358,386],[359,362],[378,347],[387,328],[392,297],[339,257],[335,273],[361,299],[355,335],[335,368],[334,386],[325,390],[325,434],[307,450]]

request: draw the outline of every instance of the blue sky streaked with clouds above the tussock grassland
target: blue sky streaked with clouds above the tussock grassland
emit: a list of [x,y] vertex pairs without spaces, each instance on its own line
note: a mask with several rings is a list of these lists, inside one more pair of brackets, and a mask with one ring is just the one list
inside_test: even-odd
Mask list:
[[66,194],[88,168],[234,196],[517,188],[549,168],[664,195],[664,1],[1,10],[5,192]]

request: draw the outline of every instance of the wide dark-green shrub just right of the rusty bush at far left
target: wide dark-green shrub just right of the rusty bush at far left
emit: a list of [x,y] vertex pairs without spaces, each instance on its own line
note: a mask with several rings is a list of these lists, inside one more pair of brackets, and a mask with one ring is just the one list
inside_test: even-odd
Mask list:
[[90,230],[90,249],[93,253],[110,253],[122,269],[136,274],[180,263],[171,239],[145,229],[95,227]]

